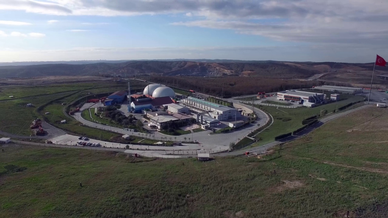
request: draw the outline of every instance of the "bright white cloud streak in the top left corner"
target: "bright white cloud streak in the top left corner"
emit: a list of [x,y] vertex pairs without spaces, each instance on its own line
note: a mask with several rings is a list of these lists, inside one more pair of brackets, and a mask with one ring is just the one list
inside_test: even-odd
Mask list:
[[[68,4],[71,1],[64,1]],[[66,6],[35,0],[0,0],[0,10],[24,10],[28,13],[68,15],[72,11]]]

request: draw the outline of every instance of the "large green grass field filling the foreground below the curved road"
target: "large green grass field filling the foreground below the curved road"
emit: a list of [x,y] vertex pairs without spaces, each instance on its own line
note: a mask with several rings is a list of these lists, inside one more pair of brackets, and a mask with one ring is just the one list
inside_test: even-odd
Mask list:
[[340,218],[349,210],[351,217],[385,217],[388,113],[376,116],[385,110],[363,109],[330,121],[260,159],[133,160],[114,152],[2,147],[0,213],[3,218]]

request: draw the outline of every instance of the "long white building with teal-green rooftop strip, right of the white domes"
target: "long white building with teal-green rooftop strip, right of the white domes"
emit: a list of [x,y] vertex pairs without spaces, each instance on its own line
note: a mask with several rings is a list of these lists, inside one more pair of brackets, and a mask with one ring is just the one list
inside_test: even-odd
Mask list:
[[218,120],[236,119],[236,116],[237,118],[241,117],[241,112],[235,108],[222,106],[194,97],[187,97],[186,99],[181,100],[180,104],[184,104],[187,107],[192,107],[202,112],[208,112],[211,118]]

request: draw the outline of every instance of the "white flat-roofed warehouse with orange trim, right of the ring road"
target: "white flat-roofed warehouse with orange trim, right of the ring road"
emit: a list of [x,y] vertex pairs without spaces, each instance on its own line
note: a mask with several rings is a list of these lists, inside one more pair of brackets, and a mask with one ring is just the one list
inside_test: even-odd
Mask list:
[[303,92],[295,90],[287,90],[285,92],[277,93],[277,100],[294,100],[301,102],[303,106],[315,107],[322,103],[325,99],[325,95],[321,93]]

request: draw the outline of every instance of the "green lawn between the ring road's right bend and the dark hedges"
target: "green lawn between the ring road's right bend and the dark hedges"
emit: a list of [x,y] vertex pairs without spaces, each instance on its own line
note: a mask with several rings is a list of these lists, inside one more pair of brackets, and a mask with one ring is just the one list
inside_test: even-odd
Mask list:
[[257,105],[256,107],[263,109],[267,113],[271,114],[274,118],[274,123],[267,129],[256,135],[255,138],[258,138],[259,141],[256,142],[254,145],[264,145],[269,142],[273,142],[276,136],[297,130],[298,128],[303,126],[302,120],[309,117],[286,114],[285,112],[279,110],[284,110],[285,108],[277,109],[276,107],[272,106]]

